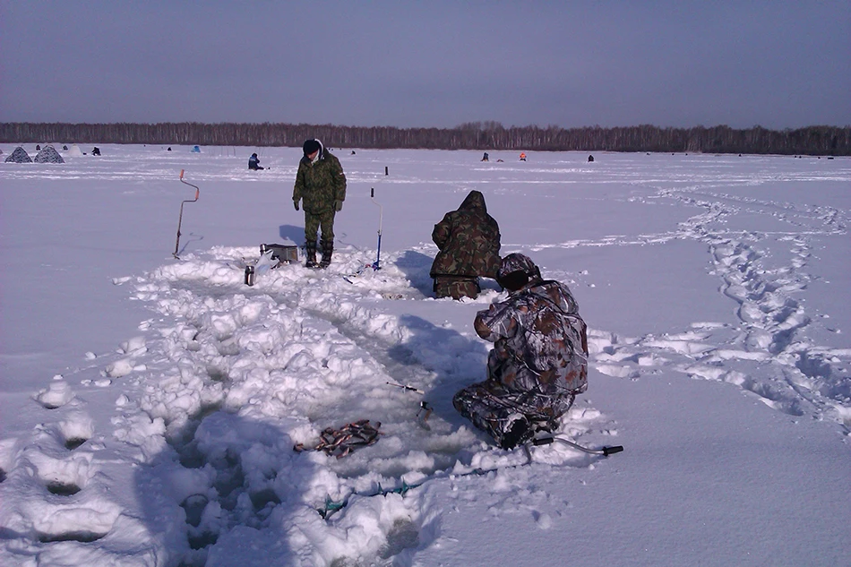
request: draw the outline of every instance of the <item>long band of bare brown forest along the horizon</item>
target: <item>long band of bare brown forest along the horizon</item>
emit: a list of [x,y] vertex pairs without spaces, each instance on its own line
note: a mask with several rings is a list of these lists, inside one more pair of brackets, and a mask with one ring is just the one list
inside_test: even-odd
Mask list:
[[41,124],[0,123],[0,142],[134,143],[301,147],[318,138],[329,148],[666,151],[788,155],[851,155],[851,126],[768,130],[754,126],[617,128],[511,126],[471,122],[455,128],[395,128],[290,124]]

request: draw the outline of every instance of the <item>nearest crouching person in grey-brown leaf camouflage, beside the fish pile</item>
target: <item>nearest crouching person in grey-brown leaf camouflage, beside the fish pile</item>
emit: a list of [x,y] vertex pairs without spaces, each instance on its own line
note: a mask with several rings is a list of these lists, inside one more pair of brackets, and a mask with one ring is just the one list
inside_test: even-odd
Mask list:
[[461,415],[503,449],[553,431],[588,387],[588,339],[570,288],[541,278],[528,256],[503,258],[497,281],[508,298],[476,315],[478,336],[494,342],[487,380],[455,394]]

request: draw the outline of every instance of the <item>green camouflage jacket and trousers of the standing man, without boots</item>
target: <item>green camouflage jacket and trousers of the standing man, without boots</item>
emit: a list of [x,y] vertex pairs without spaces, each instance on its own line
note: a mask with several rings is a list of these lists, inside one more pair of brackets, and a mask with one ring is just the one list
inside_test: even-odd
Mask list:
[[316,232],[322,228],[322,240],[333,242],[334,215],[346,200],[346,175],[340,159],[319,143],[314,160],[305,156],[298,162],[293,202],[298,205],[301,201],[305,210],[305,240],[315,242]]

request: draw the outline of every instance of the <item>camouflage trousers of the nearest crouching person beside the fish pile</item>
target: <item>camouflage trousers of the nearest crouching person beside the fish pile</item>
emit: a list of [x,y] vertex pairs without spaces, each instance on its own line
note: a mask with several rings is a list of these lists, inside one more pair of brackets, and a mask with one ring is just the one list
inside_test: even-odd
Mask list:
[[[554,431],[558,428],[559,418],[571,408],[574,399],[576,395],[567,392],[547,395],[540,391],[510,391],[501,382],[486,380],[456,393],[452,405],[502,446],[503,436],[519,417]],[[529,438],[533,433],[529,431]]]

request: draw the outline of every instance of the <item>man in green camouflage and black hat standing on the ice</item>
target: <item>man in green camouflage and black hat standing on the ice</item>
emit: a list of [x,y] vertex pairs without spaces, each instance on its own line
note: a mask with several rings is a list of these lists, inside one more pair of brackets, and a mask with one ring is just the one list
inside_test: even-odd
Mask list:
[[346,175],[340,159],[322,147],[319,140],[306,140],[305,157],[298,162],[293,205],[305,209],[305,251],[307,268],[316,267],[316,233],[322,228],[322,262],[320,268],[331,264],[334,252],[334,215],[342,210],[346,200]]

